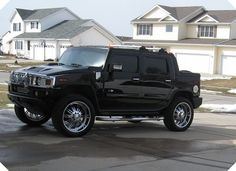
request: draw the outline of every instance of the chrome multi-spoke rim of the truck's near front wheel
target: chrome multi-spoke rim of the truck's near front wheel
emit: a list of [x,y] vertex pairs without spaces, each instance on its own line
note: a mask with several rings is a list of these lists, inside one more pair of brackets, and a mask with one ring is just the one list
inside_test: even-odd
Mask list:
[[84,102],[75,101],[66,106],[62,119],[68,131],[79,133],[88,127],[91,120],[91,111]]

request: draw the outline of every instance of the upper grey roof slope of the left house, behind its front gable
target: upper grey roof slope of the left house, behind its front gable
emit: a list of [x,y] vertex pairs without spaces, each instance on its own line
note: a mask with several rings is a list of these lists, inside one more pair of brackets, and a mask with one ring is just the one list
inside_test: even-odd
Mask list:
[[46,8],[46,9],[35,9],[35,10],[17,8],[16,10],[21,16],[22,20],[40,20],[62,9],[65,8]]

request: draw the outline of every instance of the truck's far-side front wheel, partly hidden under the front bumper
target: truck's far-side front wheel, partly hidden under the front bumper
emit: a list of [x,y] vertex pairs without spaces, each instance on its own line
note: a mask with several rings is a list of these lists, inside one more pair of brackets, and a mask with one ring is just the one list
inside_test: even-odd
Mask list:
[[27,125],[32,127],[40,126],[46,123],[51,118],[50,115],[40,115],[31,113],[22,106],[15,105],[14,108],[17,118],[23,123],[26,123]]

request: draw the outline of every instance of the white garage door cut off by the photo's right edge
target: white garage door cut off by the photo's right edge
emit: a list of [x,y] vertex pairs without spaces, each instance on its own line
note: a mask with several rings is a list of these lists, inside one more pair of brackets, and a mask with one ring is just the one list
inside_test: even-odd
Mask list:
[[222,56],[222,74],[236,76],[236,56]]

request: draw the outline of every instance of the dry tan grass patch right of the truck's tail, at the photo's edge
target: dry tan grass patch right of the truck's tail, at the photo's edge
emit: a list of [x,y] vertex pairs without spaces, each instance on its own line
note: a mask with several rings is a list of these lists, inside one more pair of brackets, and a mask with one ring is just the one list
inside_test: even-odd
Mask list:
[[[219,91],[223,94],[231,94],[228,91],[231,89],[236,89],[236,78],[231,78],[229,80],[219,79],[219,80],[206,80],[201,81],[201,88],[211,91]],[[232,94],[231,94],[232,95]]]

